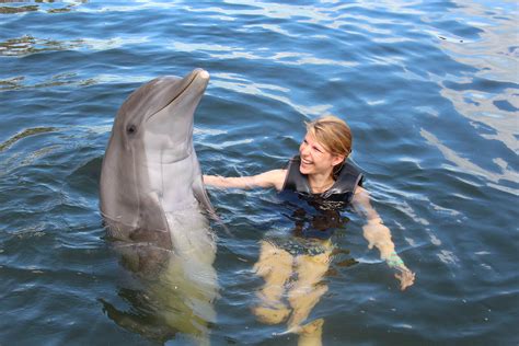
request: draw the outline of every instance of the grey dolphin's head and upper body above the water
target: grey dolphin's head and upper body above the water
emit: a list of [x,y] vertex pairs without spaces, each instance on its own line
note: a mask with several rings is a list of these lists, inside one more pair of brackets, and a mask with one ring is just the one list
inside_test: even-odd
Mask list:
[[185,78],[157,78],[120,106],[100,183],[101,211],[115,238],[131,240],[145,229],[160,234],[168,230],[164,210],[185,196],[194,199],[194,181],[201,182],[193,148],[194,113],[208,82],[201,69]]

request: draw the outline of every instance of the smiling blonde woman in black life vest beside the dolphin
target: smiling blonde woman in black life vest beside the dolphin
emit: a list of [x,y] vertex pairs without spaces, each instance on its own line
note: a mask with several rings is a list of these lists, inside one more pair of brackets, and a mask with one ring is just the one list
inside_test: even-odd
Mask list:
[[[335,116],[324,116],[307,124],[307,135],[299,147],[299,155],[290,160],[287,169],[254,176],[205,175],[204,182],[221,188],[275,187],[278,192],[293,191],[322,209],[351,203],[367,219],[362,231],[369,249],[377,246],[380,257],[397,272],[395,277],[403,290],[413,285],[415,275],[396,254],[389,228],[371,207],[369,194],[361,187],[362,174],[347,162],[351,143],[353,136],[347,124]],[[260,292],[265,304],[255,309],[260,320],[278,323],[291,313],[289,330],[304,332],[300,323],[325,291],[322,285],[316,284],[327,270],[331,251],[326,250],[326,244],[321,247],[324,250],[316,255],[302,254],[295,257],[269,242],[262,243],[260,260],[255,265],[256,273],[266,281]],[[280,303],[280,297],[281,287],[293,270],[303,282],[296,285],[297,289],[292,287],[288,293],[292,308],[290,311]],[[309,333],[310,330],[320,333],[320,321],[316,322],[307,325]]]

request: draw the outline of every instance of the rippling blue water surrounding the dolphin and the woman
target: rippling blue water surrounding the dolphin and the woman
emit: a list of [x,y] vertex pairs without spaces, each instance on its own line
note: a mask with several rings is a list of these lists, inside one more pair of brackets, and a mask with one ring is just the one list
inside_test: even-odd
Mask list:
[[[309,318],[324,320],[325,345],[519,342],[514,1],[1,2],[0,344],[186,343],[107,310],[160,330],[103,238],[97,180],[126,96],[196,67],[211,73],[195,129],[206,173],[284,166],[321,114],[354,131],[353,160],[416,282],[399,290],[346,211]],[[296,345],[251,312],[282,204],[272,191],[211,199],[235,235],[216,227],[211,343]]]

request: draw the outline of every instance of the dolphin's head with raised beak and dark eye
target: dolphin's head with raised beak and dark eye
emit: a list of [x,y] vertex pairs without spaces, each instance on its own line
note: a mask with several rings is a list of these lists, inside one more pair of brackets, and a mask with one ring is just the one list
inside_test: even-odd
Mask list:
[[185,159],[193,148],[193,119],[209,73],[196,69],[185,78],[157,78],[122,105],[113,129],[125,150],[143,141],[148,162]]

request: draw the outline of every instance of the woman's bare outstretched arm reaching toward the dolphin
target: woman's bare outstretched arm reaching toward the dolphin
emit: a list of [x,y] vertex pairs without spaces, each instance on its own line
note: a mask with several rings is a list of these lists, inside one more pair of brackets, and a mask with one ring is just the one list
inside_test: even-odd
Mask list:
[[275,187],[280,191],[286,175],[287,170],[273,170],[253,176],[204,175],[204,183],[220,188]]

